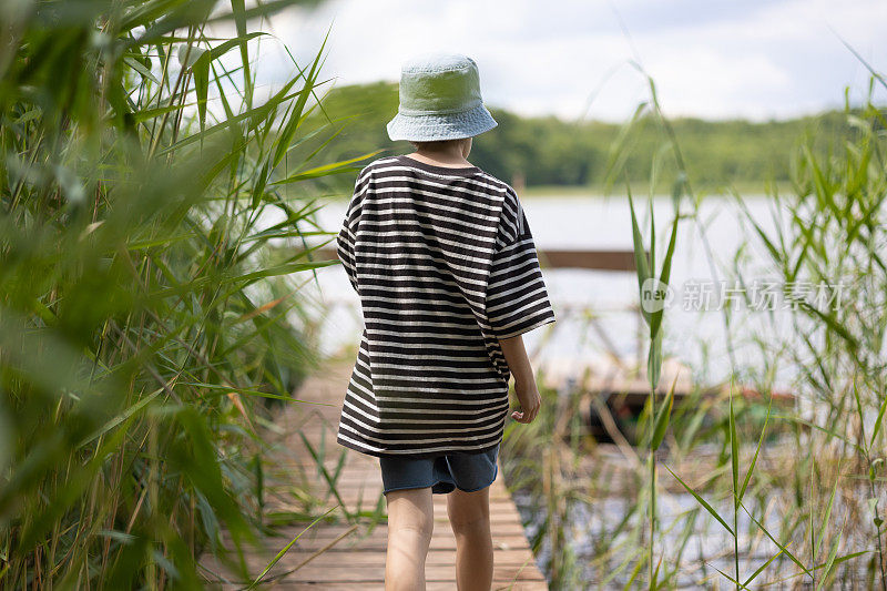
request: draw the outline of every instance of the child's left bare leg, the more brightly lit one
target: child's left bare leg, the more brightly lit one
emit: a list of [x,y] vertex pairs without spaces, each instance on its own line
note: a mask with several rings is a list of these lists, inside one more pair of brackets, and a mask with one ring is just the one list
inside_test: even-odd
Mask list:
[[425,591],[425,559],[435,527],[431,487],[392,490],[388,503],[385,591]]

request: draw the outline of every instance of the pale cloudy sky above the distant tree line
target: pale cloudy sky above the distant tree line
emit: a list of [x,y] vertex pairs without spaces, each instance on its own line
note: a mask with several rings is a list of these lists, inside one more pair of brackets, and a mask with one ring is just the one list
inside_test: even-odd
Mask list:
[[442,50],[475,59],[488,105],[523,115],[624,121],[650,96],[643,71],[669,116],[764,121],[839,109],[848,85],[858,102],[869,74],[843,41],[887,71],[885,24],[886,0],[329,0],[263,24],[261,64],[283,81],[283,45],[304,64],[329,31],[328,84],[397,81]]

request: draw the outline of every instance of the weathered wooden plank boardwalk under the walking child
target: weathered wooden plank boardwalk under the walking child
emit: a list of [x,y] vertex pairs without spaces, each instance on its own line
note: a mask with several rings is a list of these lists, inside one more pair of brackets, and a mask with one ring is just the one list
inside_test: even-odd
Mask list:
[[[325,403],[287,404],[276,425],[281,428],[281,450],[284,471],[268,475],[268,499],[266,509],[286,513],[304,511],[304,502],[294,499],[293,492],[307,488],[319,496],[323,503],[310,510],[317,517],[343,501],[351,514],[360,511],[359,519],[349,520],[343,509],[336,508],[330,517],[335,523],[318,521],[307,529],[263,579],[264,589],[379,591],[385,589],[385,549],[387,541],[387,517],[385,497],[381,493],[381,476],[378,458],[344,448],[336,442],[340,404],[350,374],[350,365],[338,364],[319,375],[308,378],[295,395],[302,400]],[[315,454],[324,457],[324,466],[334,477],[340,456],[345,461],[336,482],[339,498],[323,473],[318,473],[312,450],[298,431],[305,435]],[[323,451],[322,451],[323,450]],[[426,562],[428,591],[456,590],[456,539],[447,519],[447,501],[443,495],[435,495],[435,532]],[[373,514],[378,522],[373,524]],[[520,516],[502,480],[501,461],[499,475],[490,488],[490,520],[495,548],[493,590],[514,591],[547,590],[544,577],[536,565],[532,552],[521,524]],[[258,575],[309,521],[288,523],[278,528],[281,537],[265,540],[267,550],[251,549],[247,564],[253,577]],[[323,551],[322,551],[323,550]],[[214,558],[204,558],[202,564],[216,574],[226,574]],[[214,589],[242,589],[243,582],[214,583]]]

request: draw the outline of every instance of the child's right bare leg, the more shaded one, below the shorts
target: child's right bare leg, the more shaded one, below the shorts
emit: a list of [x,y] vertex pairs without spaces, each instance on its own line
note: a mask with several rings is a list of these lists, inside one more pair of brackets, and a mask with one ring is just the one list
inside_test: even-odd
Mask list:
[[456,584],[459,591],[490,591],[492,534],[490,487],[447,495],[447,513],[456,534]]

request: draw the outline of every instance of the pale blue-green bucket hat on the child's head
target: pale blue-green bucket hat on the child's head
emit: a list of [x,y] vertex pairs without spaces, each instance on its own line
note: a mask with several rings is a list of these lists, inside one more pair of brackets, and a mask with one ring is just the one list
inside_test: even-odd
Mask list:
[[479,135],[496,125],[483,106],[480,73],[471,58],[431,52],[402,64],[400,104],[387,125],[391,140],[458,140]]

